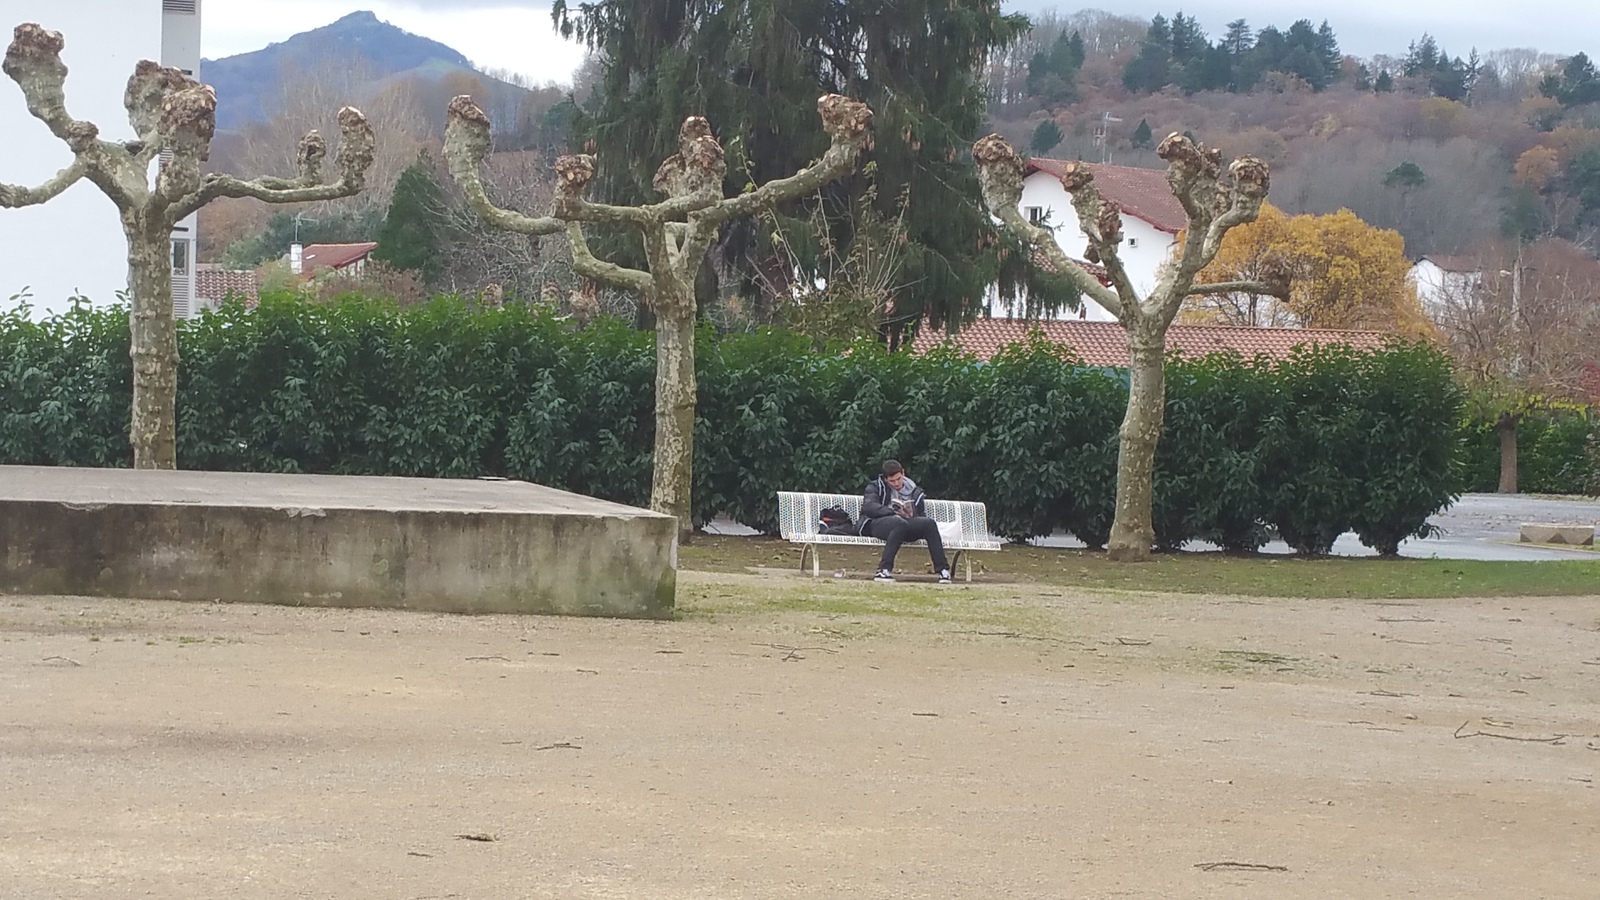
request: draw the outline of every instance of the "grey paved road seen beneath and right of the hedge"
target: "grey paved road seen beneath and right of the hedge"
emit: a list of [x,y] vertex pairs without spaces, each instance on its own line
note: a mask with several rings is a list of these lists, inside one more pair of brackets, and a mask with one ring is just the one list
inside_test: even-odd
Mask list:
[[[1400,544],[1400,556],[1437,559],[1600,559],[1600,552],[1582,549],[1558,549],[1549,546],[1518,544],[1517,535],[1523,522],[1560,522],[1568,525],[1600,525],[1600,501],[1560,500],[1549,496],[1469,493],[1454,506],[1432,517],[1442,535],[1427,540],[1410,540]],[[744,525],[720,519],[707,528],[720,535],[754,535]],[[1038,546],[1082,548],[1083,543],[1067,535],[1035,538]],[[1192,549],[1210,549],[1195,541]],[[1262,552],[1293,552],[1283,541],[1274,541]],[[1334,556],[1374,556],[1354,533],[1341,536],[1333,544]]]

